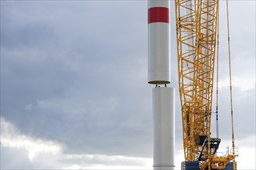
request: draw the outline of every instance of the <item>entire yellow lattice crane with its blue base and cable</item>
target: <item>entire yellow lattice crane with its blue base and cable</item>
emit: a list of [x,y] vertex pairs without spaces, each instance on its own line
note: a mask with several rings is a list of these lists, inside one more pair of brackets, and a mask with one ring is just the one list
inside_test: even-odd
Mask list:
[[[234,161],[238,154],[234,148],[233,110],[233,146],[227,151],[227,155],[216,155],[221,139],[218,135],[211,138],[219,0],[175,0],[175,18],[185,154],[182,169],[237,169],[237,163]],[[229,37],[228,35],[228,42]],[[230,94],[232,109],[231,83]]]

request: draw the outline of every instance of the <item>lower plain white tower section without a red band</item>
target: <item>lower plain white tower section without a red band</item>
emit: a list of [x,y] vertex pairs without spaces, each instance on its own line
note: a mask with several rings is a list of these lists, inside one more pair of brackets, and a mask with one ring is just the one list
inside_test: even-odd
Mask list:
[[154,170],[175,169],[175,89],[155,87],[154,114]]

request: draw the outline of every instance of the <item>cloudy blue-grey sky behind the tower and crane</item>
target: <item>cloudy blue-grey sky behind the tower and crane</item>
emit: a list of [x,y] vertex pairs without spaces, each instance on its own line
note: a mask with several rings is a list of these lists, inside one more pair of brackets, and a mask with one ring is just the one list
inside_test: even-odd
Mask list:
[[[231,146],[225,8],[221,1],[222,152]],[[171,1],[179,169],[184,156],[174,10]],[[230,41],[237,165],[255,169],[254,1],[230,1]],[[146,0],[1,0],[2,169],[152,169],[151,88]]]

